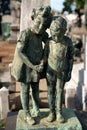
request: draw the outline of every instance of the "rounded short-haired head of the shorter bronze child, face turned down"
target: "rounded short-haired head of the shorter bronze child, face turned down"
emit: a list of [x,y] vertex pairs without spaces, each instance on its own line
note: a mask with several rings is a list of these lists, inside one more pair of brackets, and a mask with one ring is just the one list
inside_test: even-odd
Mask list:
[[50,33],[54,41],[60,41],[67,30],[67,21],[61,16],[55,16],[50,25]]

